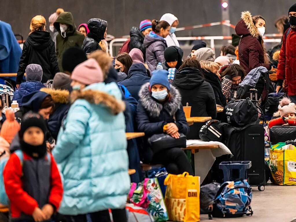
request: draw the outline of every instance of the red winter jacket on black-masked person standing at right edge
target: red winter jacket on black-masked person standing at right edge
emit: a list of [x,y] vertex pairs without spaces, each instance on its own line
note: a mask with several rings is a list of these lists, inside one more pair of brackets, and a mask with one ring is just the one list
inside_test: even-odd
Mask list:
[[[289,29],[288,29],[289,30]],[[296,95],[296,29],[291,28],[288,36],[284,34],[276,80],[285,80],[288,86],[288,96]]]

